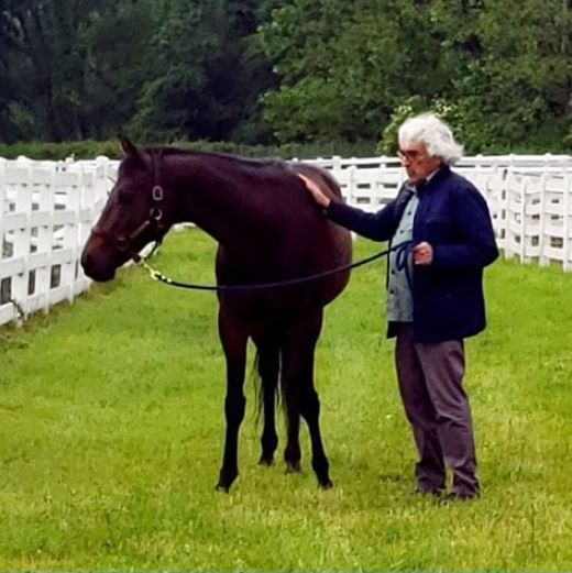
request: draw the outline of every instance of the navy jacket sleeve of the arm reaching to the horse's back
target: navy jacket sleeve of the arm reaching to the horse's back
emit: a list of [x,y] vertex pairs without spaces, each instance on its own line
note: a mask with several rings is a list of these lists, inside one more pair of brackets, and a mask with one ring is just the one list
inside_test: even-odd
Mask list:
[[326,217],[359,235],[373,241],[388,241],[395,233],[397,199],[387,203],[377,212],[369,213],[341,201],[331,201],[326,209]]

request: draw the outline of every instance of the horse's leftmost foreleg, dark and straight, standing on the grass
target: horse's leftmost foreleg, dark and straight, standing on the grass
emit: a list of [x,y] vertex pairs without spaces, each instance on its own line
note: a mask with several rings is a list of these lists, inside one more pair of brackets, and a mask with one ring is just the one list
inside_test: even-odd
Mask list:
[[219,335],[227,359],[227,396],[224,398],[227,433],[217,489],[228,492],[239,475],[238,442],[246,404],[243,385],[248,338],[222,311],[219,311]]

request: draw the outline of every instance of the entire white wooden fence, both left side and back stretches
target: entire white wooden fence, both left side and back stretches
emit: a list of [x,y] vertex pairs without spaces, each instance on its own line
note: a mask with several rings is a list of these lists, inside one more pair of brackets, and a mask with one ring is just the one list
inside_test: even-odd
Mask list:
[[[392,200],[405,173],[395,157],[314,159],[329,169],[345,199],[365,210]],[[118,162],[0,158],[0,324],[47,312],[89,286],[79,257],[99,216]],[[455,170],[491,208],[506,257],[572,269],[572,157],[475,156]]]

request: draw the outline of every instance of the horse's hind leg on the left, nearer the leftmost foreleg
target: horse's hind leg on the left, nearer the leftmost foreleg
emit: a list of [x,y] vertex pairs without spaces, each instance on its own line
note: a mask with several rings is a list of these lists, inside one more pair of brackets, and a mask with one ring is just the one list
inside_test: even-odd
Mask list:
[[262,431],[261,445],[262,454],[260,463],[271,465],[274,460],[274,452],[278,445],[278,434],[276,433],[275,405],[276,388],[278,386],[279,374],[279,348],[278,343],[272,340],[255,341],[258,351],[258,374],[262,379],[262,400],[264,412],[264,429]]

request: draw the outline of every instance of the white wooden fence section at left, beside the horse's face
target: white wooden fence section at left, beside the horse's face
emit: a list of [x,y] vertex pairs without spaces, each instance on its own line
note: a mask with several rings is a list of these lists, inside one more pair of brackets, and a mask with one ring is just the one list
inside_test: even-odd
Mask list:
[[88,279],[81,247],[117,166],[0,159],[0,324],[72,301]]

